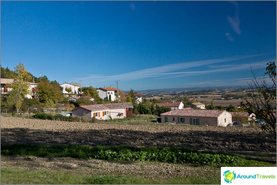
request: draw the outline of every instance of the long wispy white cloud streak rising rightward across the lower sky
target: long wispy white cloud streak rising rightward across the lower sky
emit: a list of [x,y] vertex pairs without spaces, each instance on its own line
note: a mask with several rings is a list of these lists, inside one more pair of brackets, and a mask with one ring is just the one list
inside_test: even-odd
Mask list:
[[[265,54],[262,54],[265,55]],[[248,56],[236,56],[230,58],[223,58],[223,59],[210,59],[210,60],[201,60],[201,61],[194,61],[194,62],[183,62],[183,63],[176,63],[176,64],[169,64],[164,66],[158,66],[143,70],[132,71],[123,74],[116,74],[116,75],[90,75],[88,77],[82,77],[83,81],[93,81],[97,80],[98,82],[104,81],[132,81],[132,80],[139,80],[143,78],[150,78],[150,77],[162,77],[165,76],[167,78],[176,77],[176,76],[188,76],[188,75],[195,75],[201,71],[202,74],[214,73],[214,72],[224,72],[224,71],[235,71],[235,70],[243,70],[249,68],[249,64],[241,64],[239,66],[226,66],[226,65],[218,65],[217,69],[214,70],[199,70],[199,69],[207,69],[208,65],[216,64],[216,63],[224,63],[224,62],[231,62],[237,61],[241,59],[252,58],[260,55],[248,55]],[[252,66],[261,67],[264,63],[254,63]],[[197,70],[193,70],[197,67]],[[180,71],[183,70],[183,71]],[[76,78],[80,79],[80,78]]]

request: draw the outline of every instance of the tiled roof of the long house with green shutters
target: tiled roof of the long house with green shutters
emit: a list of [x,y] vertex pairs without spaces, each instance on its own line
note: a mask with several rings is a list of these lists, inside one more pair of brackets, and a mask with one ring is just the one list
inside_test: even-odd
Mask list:
[[[227,111],[226,111],[227,112]],[[211,117],[216,118],[224,113],[224,110],[194,110],[194,109],[177,109],[165,112],[161,115],[176,115],[176,116],[190,116],[190,117]]]

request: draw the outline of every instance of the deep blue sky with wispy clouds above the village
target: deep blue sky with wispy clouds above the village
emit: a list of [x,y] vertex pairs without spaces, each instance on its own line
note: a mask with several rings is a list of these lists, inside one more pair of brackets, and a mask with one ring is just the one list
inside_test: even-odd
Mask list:
[[119,89],[247,85],[276,61],[276,1],[1,1],[1,65]]

